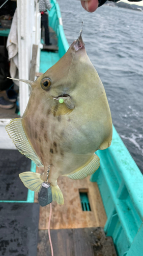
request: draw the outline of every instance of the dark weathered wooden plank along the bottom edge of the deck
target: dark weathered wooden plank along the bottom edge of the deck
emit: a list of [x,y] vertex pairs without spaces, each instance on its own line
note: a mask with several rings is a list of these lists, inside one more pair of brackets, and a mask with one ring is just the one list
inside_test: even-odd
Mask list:
[[[103,228],[50,230],[53,254],[58,256],[117,256]],[[39,231],[37,256],[51,256],[47,230]]]

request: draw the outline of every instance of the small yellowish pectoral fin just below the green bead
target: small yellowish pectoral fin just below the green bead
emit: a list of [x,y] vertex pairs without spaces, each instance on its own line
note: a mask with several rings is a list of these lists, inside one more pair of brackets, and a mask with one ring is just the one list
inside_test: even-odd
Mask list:
[[51,108],[51,112],[54,116],[69,115],[72,111],[73,109],[69,109],[65,102],[62,104],[58,102],[58,104]]

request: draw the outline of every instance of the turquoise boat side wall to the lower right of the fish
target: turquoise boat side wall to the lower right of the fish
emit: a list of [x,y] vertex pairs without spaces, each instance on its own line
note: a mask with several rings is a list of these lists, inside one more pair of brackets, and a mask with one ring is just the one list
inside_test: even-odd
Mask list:
[[114,126],[111,146],[96,153],[100,167],[91,181],[97,182],[106,211],[105,232],[120,256],[141,255],[140,247],[133,253],[143,233],[143,176]]

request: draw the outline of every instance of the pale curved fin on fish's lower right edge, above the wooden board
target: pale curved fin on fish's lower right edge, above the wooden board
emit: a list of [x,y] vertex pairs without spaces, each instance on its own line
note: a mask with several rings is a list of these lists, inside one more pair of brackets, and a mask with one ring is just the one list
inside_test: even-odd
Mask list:
[[77,172],[67,176],[73,180],[84,179],[87,176],[95,173],[95,171],[99,168],[99,166],[100,166],[100,158],[96,154],[94,154],[94,157],[89,164],[82,167],[80,170],[77,170]]

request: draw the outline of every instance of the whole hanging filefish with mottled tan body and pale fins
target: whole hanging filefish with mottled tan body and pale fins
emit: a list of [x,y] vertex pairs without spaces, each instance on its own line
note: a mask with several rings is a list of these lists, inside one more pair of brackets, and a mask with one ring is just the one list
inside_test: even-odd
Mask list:
[[100,165],[95,152],[111,144],[112,120],[103,84],[81,34],[34,82],[20,81],[31,87],[31,95],[22,118],[12,119],[6,130],[20,153],[43,166],[44,172],[24,172],[19,177],[38,192],[48,170],[52,199],[63,204],[59,176],[92,175]]

